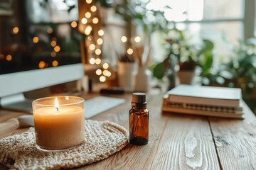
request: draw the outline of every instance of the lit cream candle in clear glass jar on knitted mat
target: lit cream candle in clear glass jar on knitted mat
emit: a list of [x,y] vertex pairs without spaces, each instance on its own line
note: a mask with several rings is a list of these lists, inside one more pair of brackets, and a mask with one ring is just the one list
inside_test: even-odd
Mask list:
[[36,145],[60,150],[85,140],[84,99],[75,96],[39,98],[33,101]]

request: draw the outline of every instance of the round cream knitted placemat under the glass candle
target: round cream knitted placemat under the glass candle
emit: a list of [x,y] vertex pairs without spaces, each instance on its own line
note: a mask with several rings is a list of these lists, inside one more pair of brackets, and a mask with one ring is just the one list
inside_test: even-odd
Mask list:
[[0,162],[16,169],[68,169],[110,157],[128,144],[128,132],[108,121],[85,120],[85,143],[61,152],[36,148],[34,128],[0,140]]

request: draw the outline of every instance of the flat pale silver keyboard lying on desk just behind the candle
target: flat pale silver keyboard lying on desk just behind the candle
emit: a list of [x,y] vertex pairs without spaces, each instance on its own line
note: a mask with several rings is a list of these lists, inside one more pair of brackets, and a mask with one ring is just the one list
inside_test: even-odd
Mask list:
[[85,118],[92,118],[93,116],[108,111],[124,102],[124,98],[106,96],[97,96],[95,98],[85,100]]

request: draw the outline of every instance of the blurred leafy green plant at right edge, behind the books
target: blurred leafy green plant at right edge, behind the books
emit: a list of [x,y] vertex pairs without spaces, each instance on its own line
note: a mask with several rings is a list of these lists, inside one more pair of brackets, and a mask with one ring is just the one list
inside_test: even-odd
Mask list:
[[256,38],[240,40],[233,46],[228,62],[221,62],[214,72],[203,74],[203,84],[210,86],[229,86],[242,89],[242,98],[256,108]]

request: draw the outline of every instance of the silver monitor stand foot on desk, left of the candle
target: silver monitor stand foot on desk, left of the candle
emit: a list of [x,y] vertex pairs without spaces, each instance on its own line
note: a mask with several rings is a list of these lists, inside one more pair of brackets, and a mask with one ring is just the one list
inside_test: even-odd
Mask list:
[[0,98],[0,106],[4,109],[13,111],[23,111],[26,113],[33,113],[32,101],[24,97],[23,94],[14,94],[11,96],[4,96]]

